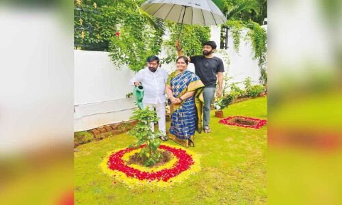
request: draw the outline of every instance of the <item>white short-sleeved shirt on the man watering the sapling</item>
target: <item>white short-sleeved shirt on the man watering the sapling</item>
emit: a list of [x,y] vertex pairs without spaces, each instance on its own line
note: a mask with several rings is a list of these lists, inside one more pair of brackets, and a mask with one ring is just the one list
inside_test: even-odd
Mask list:
[[157,104],[166,101],[165,85],[168,81],[168,72],[161,68],[157,68],[155,72],[151,72],[148,68],[139,70],[135,77],[131,79],[131,84],[141,82],[144,86],[144,98],[142,102],[147,104]]

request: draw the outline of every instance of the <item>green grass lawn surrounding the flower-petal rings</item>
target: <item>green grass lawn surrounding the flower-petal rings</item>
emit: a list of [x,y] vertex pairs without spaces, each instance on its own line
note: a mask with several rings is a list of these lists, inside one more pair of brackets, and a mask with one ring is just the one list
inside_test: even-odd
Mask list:
[[[224,116],[266,119],[267,98],[229,106]],[[209,134],[196,134],[202,170],[165,190],[127,188],[99,167],[107,152],[135,142],[127,134],[83,144],[75,152],[76,204],[266,204],[267,124],[260,129],[219,124],[211,116]],[[173,141],[167,144],[178,145]]]

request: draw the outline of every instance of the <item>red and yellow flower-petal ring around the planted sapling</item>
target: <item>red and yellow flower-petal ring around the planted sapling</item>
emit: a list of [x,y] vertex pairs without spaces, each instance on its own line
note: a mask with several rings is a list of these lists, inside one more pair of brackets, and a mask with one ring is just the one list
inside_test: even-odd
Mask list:
[[[101,163],[103,172],[127,184],[128,187],[170,187],[172,184],[183,182],[189,175],[200,171],[199,157],[194,152],[178,146],[161,144],[160,150],[171,153],[172,160],[159,167],[143,167],[128,165],[129,156],[139,152],[140,148],[124,148],[110,152]],[[114,181],[114,183],[116,183]]]

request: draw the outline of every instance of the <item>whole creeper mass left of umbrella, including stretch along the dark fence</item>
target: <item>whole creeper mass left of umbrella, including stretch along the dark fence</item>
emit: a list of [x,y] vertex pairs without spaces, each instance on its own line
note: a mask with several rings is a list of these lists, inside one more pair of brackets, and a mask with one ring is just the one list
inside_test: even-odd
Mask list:
[[101,7],[80,1],[74,11],[75,49],[109,51],[117,68],[127,65],[133,71],[161,51],[163,29],[157,29],[139,7],[124,1]]

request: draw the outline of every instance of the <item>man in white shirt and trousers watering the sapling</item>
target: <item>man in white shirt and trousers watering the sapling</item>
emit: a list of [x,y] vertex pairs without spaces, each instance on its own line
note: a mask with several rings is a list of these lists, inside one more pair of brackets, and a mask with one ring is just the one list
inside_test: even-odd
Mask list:
[[[157,111],[158,127],[159,131],[163,133],[161,140],[166,141],[166,120],[165,120],[165,85],[168,81],[168,72],[158,68],[159,58],[155,55],[151,55],[147,58],[147,68],[144,68],[135,74],[135,77],[131,79],[131,84],[135,86],[142,83],[144,86],[144,98],[142,103],[144,107],[155,107]],[[154,124],[151,123],[151,130],[154,131]]]

